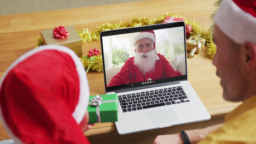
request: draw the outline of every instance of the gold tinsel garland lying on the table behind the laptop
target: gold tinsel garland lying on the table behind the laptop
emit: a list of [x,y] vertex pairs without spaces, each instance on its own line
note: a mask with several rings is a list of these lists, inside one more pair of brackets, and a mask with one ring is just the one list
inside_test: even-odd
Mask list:
[[[77,29],[78,34],[80,35],[83,43],[88,43],[95,40],[100,40],[100,33],[102,31],[108,31],[113,29],[121,29],[121,28],[129,28],[129,27],[138,27],[138,26],[147,26],[147,25],[154,25],[158,23],[164,22],[167,16],[178,17],[184,19],[185,24],[189,24],[193,27],[193,32],[190,35],[197,35],[201,34],[201,38],[206,39],[206,45],[208,47],[207,54],[210,58],[213,58],[216,53],[216,45],[212,41],[212,32],[210,30],[202,29],[199,23],[195,20],[187,20],[185,17],[179,14],[169,14],[166,13],[165,15],[158,16],[157,18],[148,19],[147,17],[138,17],[138,18],[131,18],[131,22],[120,22],[109,23],[103,22],[101,26],[96,27],[92,31],[88,28]],[[42,37],[38,37],[37,39],[37,46],[43,45]],[[82,56],[80,57],[80,61],[82,61],[86,72],[88,71],[102,71],[102,58],[101,56]]]

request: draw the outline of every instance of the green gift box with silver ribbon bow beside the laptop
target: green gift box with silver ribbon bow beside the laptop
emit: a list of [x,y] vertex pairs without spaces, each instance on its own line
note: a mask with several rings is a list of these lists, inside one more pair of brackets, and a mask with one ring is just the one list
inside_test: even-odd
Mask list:
[[[90,96],[89,123],[105,123],[118,121],[118,95],[106,94]],[[98,121],[100,119],[100,121]]]

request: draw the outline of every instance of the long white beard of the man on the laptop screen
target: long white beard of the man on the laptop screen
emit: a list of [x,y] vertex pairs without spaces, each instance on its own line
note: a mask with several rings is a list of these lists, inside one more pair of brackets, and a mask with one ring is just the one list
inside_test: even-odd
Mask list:
[[[143,57],[146,56],[146,57]],[[145,75],[149,71],[153,71],[155,68],[155,61],[159,60],[159,56],[156,51],[149,51],[147,53],[135,53],[134,64],[141,70],[142,74]]]

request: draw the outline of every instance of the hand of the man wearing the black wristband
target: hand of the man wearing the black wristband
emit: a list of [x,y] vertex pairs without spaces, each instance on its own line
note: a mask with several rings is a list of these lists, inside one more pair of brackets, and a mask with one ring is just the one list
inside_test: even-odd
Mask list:
[[180,134],[159,135],[155,138],[154,144],[183,144]]

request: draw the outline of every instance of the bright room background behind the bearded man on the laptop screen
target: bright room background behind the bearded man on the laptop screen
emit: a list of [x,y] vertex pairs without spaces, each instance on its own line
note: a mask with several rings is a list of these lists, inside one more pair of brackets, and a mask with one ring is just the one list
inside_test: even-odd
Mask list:
[[[157,53],[163,55],[175,71],[187,75],[184,27],[157,29],[154,33]],[[137,34],[138,32],[102,37],[107,85],[112,77],[119,73],[127,59],[136,56],[133,39]]]

